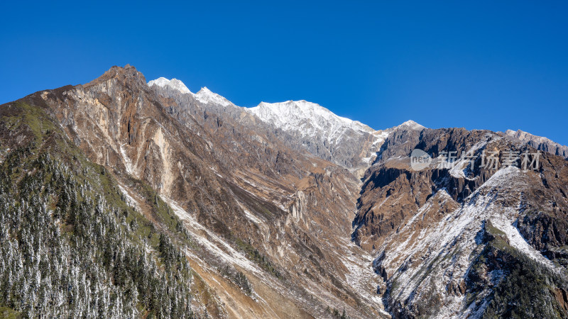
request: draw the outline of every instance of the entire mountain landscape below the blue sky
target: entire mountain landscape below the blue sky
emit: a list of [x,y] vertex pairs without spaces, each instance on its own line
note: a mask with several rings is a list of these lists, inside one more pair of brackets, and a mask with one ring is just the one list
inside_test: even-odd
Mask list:
[[0,317],[568,318],[567,150],[112,67],[0,106]]

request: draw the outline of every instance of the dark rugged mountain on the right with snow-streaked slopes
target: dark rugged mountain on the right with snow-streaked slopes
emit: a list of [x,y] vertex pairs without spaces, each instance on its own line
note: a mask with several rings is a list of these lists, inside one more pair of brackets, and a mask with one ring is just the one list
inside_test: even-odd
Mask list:
[[[535,152],[486,130],[408,130],[368,169],[353,238],[376,252],[380,291],[396,318],[566,315],[567,167],[488,169],[484,152]],[[412,168],[414,148],[470,154],[454,167]],[[520,164],[520,160],[518,161]],[[493,167],[492,167],[493,168]],[[544,284],[546,282],[546,284]],[[530,306],[537,301],[538,306]]]

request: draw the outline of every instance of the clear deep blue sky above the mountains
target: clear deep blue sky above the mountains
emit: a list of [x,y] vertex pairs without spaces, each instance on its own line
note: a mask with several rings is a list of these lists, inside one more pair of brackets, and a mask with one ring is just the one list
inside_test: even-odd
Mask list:
[[568,145],[567,1],[271,2],[2,1],[0,103],[131,64],[239,106]]

